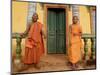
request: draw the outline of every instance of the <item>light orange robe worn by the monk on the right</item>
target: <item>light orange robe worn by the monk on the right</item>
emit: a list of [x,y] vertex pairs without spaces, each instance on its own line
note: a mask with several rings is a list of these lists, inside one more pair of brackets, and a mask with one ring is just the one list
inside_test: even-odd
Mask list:
[[[71,25],[70,27],[70,48],[69,48],[69,61],[73,64],[77,63],[81,58],[81,34],[82,29],[80,25]],[[74,35],[78,34],[78,35]]]

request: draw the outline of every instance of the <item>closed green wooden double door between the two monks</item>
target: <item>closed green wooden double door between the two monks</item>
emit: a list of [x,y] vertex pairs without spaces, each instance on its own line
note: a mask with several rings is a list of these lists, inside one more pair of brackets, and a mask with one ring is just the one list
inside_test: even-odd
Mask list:
[[48,9],[48,53],[65,53],[65,10],[64,9]]

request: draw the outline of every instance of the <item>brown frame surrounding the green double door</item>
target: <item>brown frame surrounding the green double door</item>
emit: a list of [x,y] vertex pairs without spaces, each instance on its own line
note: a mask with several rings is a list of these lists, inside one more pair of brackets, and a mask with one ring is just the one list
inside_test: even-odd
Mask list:
[[[46,29],[46,34],[48,33],[48,28],[47,28],[47,12],[48,12],[48,8],[63,8],[63,9],[65,9],[65,15],[66,15],[66,37],[68,36],[68,29],[69,29],[69,27],[68,27],[68,5],[62,5],[62,4],[44,4],[44,18],[45,18],[45,20],[44,20],[44,23],[45,23],[45,29]],[[48,35],[48,34],[47,34]],[[45,54],[48,54],[48,49],[47,49],[47,38],[46,38],[46,42],[45,42],[45,44],[46,44],[46,47],[45,47]],[[68,38],[66,38],[66,50],[68,50]],[[67,52],[67,51],[66,51]],[[67,54],[67,53],[65,53],[65,54]]]

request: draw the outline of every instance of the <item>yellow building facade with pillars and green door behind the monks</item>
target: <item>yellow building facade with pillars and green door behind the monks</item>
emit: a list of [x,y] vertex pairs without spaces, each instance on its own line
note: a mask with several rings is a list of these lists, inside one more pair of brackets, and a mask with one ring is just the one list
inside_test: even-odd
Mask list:
[[[34,12],[44,25],[47,39],[44,39],[45,55],[67,54],[69,44],[69,25],[72,17],[78,16],[83,34],[94,34],[96,26],[96,7],[71,4],[50,4],[12,1],[12,33],[23,33],[31,22]],[[25,39],[22,40],[24,53]],[[16,40],[12,39],[12,53],[15,53]]]

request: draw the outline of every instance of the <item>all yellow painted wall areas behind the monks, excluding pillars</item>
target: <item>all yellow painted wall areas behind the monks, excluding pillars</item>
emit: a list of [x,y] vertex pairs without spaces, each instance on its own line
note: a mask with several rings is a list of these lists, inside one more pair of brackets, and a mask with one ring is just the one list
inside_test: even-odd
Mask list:
[[[36,12],[39,16],[39,21],[45,25],[45,15],[44,8],[40,3],[36,5]],[[72,24],[72,11],[68,9],[68,25]],[[24,32],[27,24],[27,15],[28,15],[28,2],[12,2],[12,33],[14,32]],[[79,15],[80,15],[80,25],[82,25],[83,33],[90,33],[90,14],[85,6],[79,6]],[[22,50],[24,53],[25,39],[22,40]],[[45,42],[46,48],[46,42]],[[16,40],[12,39],[12,50],[15,53],[16,49]]]

